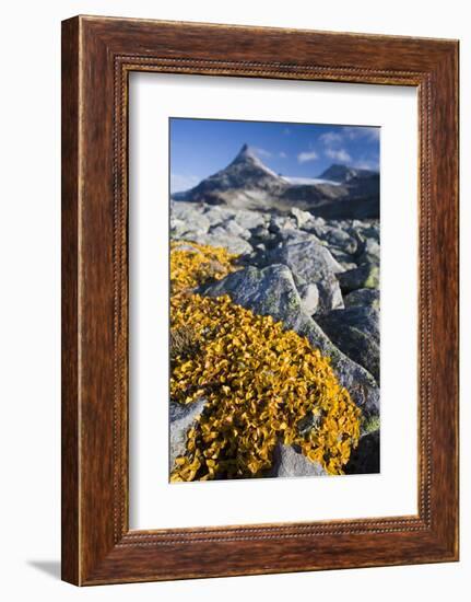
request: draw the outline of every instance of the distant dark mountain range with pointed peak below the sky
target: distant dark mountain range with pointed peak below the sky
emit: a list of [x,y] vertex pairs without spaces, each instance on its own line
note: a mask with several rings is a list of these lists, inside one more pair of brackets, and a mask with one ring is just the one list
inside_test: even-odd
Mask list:
[[[316,180],[296,183],[296,178],[280,176],[244,144],[226,167],[174,194],[173,199],[276,212],[297,207],[335,218],[356,217],[358,211],[362,217],[379,217],[378,173],[331,165]],[[362,199],[367,200],[364,206]]]

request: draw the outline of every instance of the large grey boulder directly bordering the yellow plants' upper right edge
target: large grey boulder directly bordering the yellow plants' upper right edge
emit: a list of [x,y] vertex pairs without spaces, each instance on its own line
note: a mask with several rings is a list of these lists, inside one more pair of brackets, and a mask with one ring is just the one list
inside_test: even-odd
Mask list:
[[210,297],[228,294],[234,303],[257,314],[271,315],[286,328],[305,336],[313,348],[331,358],[340,383],[348,389],[355,404],[366,416],[379,412],[379,389],[374,377],[345,356],[323,333],[303,308],[303,302],[290,269],[273,265],[263,269],[249,266],[228,274],[222,280],[204,287]]

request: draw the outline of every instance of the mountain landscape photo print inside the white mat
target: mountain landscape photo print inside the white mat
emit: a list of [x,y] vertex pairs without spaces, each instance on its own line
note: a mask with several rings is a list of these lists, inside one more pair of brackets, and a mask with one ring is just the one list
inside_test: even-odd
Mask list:
[[373,126],[170,118],[169,481],[378,473]]

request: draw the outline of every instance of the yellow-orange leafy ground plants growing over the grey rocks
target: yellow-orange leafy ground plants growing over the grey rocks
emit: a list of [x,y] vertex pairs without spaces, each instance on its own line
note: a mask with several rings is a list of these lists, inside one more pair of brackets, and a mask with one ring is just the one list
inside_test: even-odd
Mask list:
[[[199,352],[174,358],[170,396],[180,404],[204,397],[208,404],[187,435],[186,454],[177,459],[172,481],[261,476],[278,441],[299,445],[328,473],[342,474],[358,441],[361,413],[330,360],[271,316],[235,305],[227,296],[191,293],[188,288],[217,277],[208,270],[209,261],[220,264],[222,277],[234,269],[234,256],[180,246],[173,247],[170,259],[172,328],[190,328]],[[304,420],[317,427],[303,429]]]

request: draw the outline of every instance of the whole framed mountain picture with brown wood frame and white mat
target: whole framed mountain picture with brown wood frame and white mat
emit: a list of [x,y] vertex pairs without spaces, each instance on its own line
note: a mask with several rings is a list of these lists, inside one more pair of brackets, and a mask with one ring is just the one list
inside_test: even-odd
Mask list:
[[458,42],[62,23],[62,578],[458,559]]

